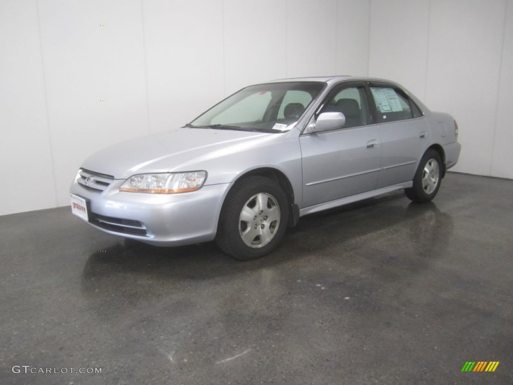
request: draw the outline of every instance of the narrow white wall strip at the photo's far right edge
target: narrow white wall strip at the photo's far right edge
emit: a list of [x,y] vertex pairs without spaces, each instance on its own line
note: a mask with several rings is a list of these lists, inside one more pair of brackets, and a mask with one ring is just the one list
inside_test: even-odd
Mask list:
[[513,0],[507,2],[491,175],[513,179]]

